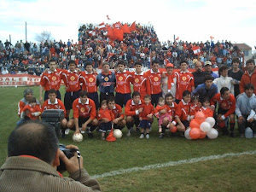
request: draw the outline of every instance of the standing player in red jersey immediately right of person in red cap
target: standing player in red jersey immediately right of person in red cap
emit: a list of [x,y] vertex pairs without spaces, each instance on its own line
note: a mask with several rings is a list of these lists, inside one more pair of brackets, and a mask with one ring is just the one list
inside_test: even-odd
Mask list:
[[189,90],[190,92],[195,90],[194,85],[194,76],[188,70],[188,61],[181,61],[180,62],[180,71],[175,73],[177,78],[177,85],[176,85],[176,102],[180,102],[183,98],[183,91]]

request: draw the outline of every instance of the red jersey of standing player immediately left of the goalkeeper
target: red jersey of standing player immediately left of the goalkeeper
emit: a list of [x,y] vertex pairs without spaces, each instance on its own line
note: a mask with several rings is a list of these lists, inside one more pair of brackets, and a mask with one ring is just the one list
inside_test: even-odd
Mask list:
[[82,83],[82,90],[88,93],[97,92],[96,73],[82,72],[79,77],[79,82]]

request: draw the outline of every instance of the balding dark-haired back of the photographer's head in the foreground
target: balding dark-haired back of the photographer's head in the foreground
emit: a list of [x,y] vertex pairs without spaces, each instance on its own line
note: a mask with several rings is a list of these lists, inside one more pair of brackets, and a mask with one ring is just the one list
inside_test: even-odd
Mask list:
[[51,164],[57,148],[55,129],[51,125],[32,121],[11,132],[8,156],[32,155]]

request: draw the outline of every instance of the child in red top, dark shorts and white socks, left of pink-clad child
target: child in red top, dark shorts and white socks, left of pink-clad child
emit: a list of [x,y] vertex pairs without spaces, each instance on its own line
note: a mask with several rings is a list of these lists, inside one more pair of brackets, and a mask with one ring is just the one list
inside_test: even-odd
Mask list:
[[154,115],[154,106],[151,104],[151,97],[144,96],[143,113],[139,113],[140,124],[138,127],[141,131],[140,138],[144,138],[144,132],[146,132],[146,138],[149,138],[149,129]]

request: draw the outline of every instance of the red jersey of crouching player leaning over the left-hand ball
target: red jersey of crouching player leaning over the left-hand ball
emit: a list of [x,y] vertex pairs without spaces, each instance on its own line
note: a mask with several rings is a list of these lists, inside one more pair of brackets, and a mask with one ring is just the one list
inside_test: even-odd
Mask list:
[[84,104],[81,102],[80,98],[73,101],[73,118],[79,119],[79,117],[90,117],[90,119],[96,118],[96,107],[93,100],[87,98]]

